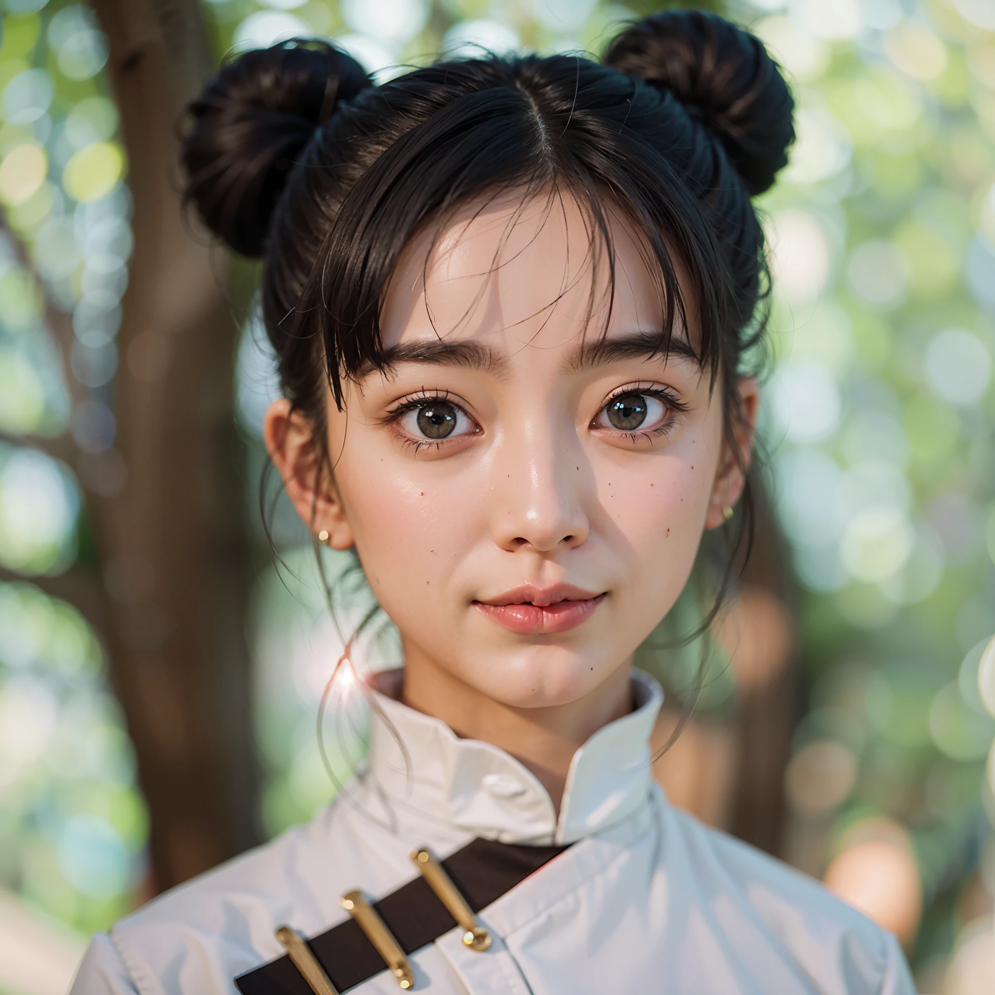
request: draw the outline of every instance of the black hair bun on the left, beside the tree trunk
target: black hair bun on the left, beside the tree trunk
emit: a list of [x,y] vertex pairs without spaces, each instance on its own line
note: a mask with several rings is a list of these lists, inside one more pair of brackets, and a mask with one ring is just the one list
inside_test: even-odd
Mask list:
[[180,159],[186,199],[243,256],[261,256],[298,153],[340,100],[371,86],[324,42],[283,42],[224,66],[188,107]]

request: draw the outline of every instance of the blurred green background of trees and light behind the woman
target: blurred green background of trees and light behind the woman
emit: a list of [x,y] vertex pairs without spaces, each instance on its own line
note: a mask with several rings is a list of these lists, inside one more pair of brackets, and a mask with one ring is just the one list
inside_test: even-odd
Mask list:
[[[325,36],[599,53],[665,4],[2,0],[0,993],[307,819],[339,646],[269,491],[254,270],[181,213],[176,122],[233,50]],[[920,990],[995,990],[995,0],[729,0],[795,91],[760,202],[775,278],[760,543],[704,647],[640,651],[678,804],[898,934]],[[345,613],[368,597],[341,572]],[[397,662],[389,627],[360,655]],[[361,709],[327,739],[344,774]],[[986,707],[987,705],[987,707]],[[334,716],[349,720],[333,728]],[[987,758],[987,772],[986,772]]]

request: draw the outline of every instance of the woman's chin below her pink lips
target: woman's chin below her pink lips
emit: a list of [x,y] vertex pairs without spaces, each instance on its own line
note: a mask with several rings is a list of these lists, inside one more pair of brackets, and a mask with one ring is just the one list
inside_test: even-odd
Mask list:
[[518,651],[474,655],[460,677],[478,691],[513,708],[571,704],[594,691],[622,665],[607,653],[585,647],[527,646]]

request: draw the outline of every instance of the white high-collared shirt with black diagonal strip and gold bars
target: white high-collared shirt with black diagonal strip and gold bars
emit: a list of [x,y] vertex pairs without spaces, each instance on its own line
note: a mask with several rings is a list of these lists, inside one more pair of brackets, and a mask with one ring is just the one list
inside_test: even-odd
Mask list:
[[[411,957],[433,995],[914,995],[895,937],[821,885],[670,805],[649,737],[663,695],[636,673],[636,710],[576,752],[557,818],[539,781],[490,743],[381,695],[366,775],[312,822],[173,889],[100,933],[71,995],[231,995],[233,978],[485,837],[573,846],[480,914],[494,942],[453,929]],[[350,990],[398,995],[384,971]]]

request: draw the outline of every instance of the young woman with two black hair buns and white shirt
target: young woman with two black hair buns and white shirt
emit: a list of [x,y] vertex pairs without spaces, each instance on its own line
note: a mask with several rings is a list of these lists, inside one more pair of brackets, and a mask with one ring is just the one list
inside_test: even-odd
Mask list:
[[97,936],[77,995],[913,991],[894,937],[668,804],[631,668],[744,517],[791,112],[690,12],[380,87],[281,45],[194,102],[190,199],[265,259],[267,446],[404,668],[334,804]]

